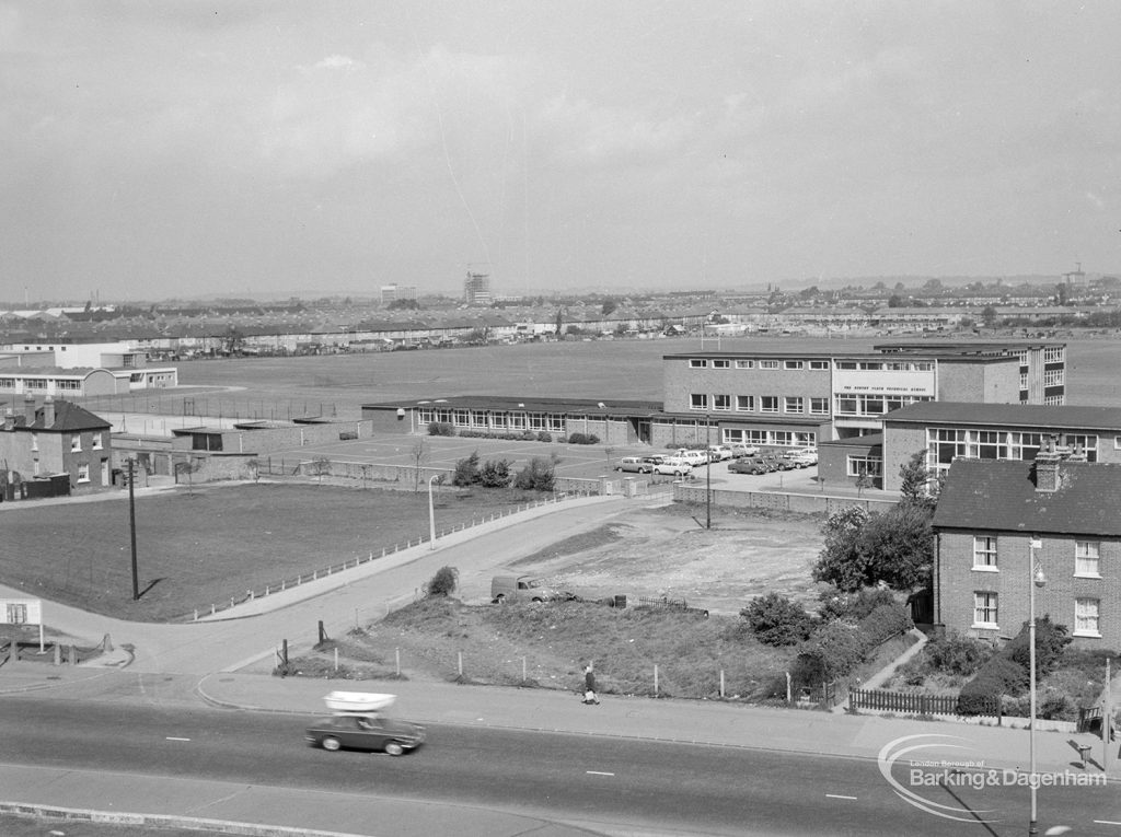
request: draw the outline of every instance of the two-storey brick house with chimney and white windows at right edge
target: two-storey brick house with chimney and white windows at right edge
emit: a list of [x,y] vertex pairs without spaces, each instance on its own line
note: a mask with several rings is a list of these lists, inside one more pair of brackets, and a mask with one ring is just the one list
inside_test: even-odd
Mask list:
[[1031,541],[1046,575],[1036,616],[1075,644],[1121,649],[1121,464],[956,459],[935,512],[935,622],[1010,639],[1028,621]]

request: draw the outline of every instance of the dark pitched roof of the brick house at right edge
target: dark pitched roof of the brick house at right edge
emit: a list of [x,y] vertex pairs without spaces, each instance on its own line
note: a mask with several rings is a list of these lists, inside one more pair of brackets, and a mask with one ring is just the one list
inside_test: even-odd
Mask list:
[[1059,463],[1059,489],[1036,491],[1034,462],[955,459],[938,497],[939,529],[1121,536],[1121,464]]

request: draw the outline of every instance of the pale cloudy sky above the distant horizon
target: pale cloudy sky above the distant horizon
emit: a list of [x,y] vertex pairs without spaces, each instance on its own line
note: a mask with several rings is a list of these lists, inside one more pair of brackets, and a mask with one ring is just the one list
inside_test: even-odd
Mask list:
[[0,299],[1121,271],[1102,2],[0,0]]

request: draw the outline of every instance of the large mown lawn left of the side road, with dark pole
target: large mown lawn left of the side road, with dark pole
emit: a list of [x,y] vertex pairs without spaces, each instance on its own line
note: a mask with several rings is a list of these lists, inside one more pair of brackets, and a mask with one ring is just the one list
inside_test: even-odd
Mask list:
[[[528,499],[536,499],[528,495]],[[436,494],[437,531],[526,502],[518,492]],[[118,619],[163,622],[245,590],[337,566],[428,533],[427,493],[330,484],[196,486],[136,503],[132,599],[128,499],[0,513],[4,584]]]

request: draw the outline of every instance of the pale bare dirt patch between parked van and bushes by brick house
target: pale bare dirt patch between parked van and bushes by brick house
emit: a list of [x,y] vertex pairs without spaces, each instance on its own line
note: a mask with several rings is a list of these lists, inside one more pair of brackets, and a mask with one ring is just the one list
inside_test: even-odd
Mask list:
[[[807,605],[822,549],[822,520],[765,510],[641,509],[519,559],[519,571],[585,598],[684,598],[711,613],[736,614],[754,596],[785,593]],[[489,595],[490,576],[461,579],[466,601]]]

